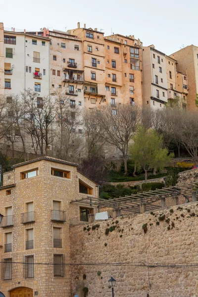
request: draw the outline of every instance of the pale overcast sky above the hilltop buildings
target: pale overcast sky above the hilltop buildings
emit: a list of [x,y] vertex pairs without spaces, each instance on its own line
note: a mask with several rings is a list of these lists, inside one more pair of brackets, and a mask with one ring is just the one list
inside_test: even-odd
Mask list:
[[198,46],[197,0],[9,0],[0,5],[0,21],[4,27],[34,31],[65,31],[80,22],[105,35],[135,35],[144,46],[154,44],[166,54]]

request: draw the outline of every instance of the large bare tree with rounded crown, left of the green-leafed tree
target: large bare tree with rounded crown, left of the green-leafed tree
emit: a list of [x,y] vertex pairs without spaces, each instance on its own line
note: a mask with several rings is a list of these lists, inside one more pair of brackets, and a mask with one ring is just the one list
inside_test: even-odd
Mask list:
[[131,104],[119,104],[116,108],[107,105],[99,108],[98,117],[103,138],[122,152],[127,174],[129,143],[139,124],[140,110]]

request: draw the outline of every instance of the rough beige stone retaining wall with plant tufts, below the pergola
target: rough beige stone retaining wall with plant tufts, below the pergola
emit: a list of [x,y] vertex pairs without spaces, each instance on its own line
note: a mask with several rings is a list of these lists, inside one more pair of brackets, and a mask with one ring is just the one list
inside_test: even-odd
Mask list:
[[[89,297],[111,296],[108,280],[112,276],[116,297],[198,297],[198,267],[191,266],[198,265],[198,203],[180,207],[172,207],[172,214],[166,208],[154,215],[97,222],[95,230],[93,225],[89,231],[72,227],[71,259],[76,266],[71,273],[71,296],[83,297],[83,287],[88,287]],[[170,221],[159,221],[159,214]],[[111,226],[115,230],[105,235]]]

